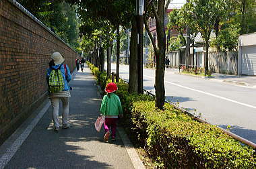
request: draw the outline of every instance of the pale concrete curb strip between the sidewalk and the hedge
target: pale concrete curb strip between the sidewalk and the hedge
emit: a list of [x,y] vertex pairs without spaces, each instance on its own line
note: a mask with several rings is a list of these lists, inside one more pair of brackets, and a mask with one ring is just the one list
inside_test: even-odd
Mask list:
[[[97,84],[96,84],[97,85]],[[98,88],[98,96],[101,97],[102,90],[99,85],[97,85]],[[122,127],[117,127],[117,131],[119,132],[119,135],[122,139],[122,142],[125,146],[125,150],[127,154],[129,155],[129,158],[131,159],[131,163],[133,164],[134,168],[143,169],[145,166],[141,162],[139,155],[137,154],[133,144],[131,143],[129,137],[125,133],[125,130]]]

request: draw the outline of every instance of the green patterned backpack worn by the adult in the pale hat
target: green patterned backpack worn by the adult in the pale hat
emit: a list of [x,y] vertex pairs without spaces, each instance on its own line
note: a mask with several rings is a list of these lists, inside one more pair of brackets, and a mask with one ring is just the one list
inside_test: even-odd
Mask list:
[[[59,66],[61,68],[61,66]],[[56,93],[59,91],[63,91],[65,81],[63,79],[63,76],[61,74],[61,70],[52,69],[51,74],[49,76],[49,91],[50,93]]]

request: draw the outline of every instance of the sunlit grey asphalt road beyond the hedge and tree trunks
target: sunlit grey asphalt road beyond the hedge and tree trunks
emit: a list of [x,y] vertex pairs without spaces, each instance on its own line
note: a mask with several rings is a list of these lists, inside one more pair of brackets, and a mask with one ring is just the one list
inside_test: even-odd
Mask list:
[[[112,64],[112,71],[116,66]],[[120,76],[129,80],[129,66],[120,65]],[[206,121],[256,143],[256,89],[241,87],[215,80],[176,74],[168,68],[165,72],[166,99],[179,103],[191,113],[201,115]],[[143,69],[143,88],[154,90],[155,70]]]

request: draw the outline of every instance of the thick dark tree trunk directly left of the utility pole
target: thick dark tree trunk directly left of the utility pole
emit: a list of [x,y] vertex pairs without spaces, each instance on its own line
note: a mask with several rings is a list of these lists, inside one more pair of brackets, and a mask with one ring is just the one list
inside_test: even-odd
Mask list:
[[129,59],[129,93],[137,93],[137,24],[133,17]]

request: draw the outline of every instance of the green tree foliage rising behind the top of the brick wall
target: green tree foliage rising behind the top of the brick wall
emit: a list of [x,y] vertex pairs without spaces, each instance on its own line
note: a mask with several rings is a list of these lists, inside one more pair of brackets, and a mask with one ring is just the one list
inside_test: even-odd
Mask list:
[[75,12],[75,6],[71,7],[65,1],[51,0],[18,0],[18,2],[78,51],[79,19]]

